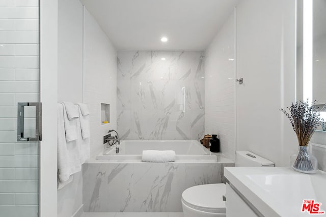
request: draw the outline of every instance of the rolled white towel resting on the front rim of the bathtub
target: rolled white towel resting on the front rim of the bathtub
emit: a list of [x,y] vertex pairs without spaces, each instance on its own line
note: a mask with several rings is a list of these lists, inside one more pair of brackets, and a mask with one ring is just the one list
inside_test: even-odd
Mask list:
[[143,150],[143,162],[174,162],[175,152],[173,150]]

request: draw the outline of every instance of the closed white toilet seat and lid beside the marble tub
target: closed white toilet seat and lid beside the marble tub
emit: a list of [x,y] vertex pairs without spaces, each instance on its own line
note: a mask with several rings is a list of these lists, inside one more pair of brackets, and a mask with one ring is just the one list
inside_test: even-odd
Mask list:
[[225,201],[223,201],[225,193],[224,183],[197,185],[182,193],[182,202],[196,210],[226,213]]

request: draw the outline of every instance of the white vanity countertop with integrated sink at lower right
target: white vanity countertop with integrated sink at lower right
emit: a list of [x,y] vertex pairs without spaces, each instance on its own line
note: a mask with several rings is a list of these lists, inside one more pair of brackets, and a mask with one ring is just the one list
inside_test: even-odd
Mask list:
[[[322,203],[326,213],[326,172],[304,174],[290,167],[225,167],[224,175],[265,216],[311,216],[303,200]],[[326,216],[317,214],[315,216]]]

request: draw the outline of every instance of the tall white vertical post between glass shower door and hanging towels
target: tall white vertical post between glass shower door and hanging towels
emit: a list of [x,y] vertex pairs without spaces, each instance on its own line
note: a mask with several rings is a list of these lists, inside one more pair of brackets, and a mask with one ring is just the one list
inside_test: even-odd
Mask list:
[[39,216],[57,217],[58,0],[39,0]]

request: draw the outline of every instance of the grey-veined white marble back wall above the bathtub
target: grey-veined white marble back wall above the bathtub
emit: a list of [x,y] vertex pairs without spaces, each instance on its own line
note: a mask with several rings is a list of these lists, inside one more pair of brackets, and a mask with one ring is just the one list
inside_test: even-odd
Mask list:
[[119,51],[117,67],[122,140],[203,137],[204,52]]

